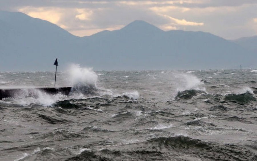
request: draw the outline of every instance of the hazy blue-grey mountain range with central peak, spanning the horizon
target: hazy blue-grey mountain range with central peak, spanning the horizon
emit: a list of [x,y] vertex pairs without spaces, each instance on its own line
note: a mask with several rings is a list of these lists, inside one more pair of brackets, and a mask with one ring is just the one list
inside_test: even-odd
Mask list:
[[257,55],[205,32],[162,31],[144,21],[77,37],[48,21],[0,11],[0,71],[53,70],[68,63],[95,70],[221,69],[252,65]]

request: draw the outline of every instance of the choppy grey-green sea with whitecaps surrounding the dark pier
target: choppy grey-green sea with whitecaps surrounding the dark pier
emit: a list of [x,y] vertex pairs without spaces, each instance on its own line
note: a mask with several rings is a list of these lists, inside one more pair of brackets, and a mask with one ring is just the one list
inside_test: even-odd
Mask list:
[[[257,160],[255,70],[59,72],[0,100],[0,160]],[[2,72],[0,86],[53,86]]]

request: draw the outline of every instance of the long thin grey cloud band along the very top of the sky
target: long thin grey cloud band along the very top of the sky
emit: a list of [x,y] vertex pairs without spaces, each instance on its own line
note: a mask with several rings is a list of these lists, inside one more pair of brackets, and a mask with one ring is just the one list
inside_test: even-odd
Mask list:
[[10,10],[19,7],[62,7],[62,8],[98,8],[113,4],[125,5],[152,5],[152,6],[179,6],[186,8],[206,8],[221,6],[241,6],[245,4],[257,4],[256,0],[1,0],[0,9]]

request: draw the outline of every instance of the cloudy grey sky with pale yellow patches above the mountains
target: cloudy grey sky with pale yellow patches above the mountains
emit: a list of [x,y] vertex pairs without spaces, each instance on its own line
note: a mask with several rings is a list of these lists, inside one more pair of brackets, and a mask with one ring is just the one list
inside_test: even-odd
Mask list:
[[81,37],[134,20],[225,39],[257,35],[257,0],[0,0],[0,10],[47,20]]

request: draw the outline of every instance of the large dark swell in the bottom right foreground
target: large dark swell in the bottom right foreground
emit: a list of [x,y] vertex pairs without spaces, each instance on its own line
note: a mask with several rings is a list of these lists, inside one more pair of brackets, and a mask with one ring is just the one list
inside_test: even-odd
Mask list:
[[[196,160],[199,157],[210,160],[252,160],[256,158],[253,152],[239,146],[204,142],[188,136],[159,137],[147,140],[146,143],[185,154],[183,158],[175,157],[170,158],[171,160],[188,160],[188,156],[190,156],[190,160]],[[183,154],[179,154],[183,156]]]

